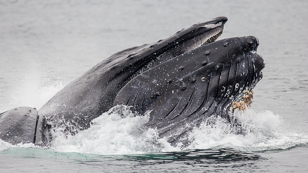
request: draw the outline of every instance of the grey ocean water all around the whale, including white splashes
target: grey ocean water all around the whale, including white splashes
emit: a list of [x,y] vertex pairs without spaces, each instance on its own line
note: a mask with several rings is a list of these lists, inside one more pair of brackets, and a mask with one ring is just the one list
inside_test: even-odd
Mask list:
[[308,1],[0,0],[0,112],[39,109],[113,53],[228,17],[222,38],[253,35],[265,60],[246,135],[217,119],[171,146],[148,115],[104,113],[48,148],[0,140],[0,172],[307,172]]

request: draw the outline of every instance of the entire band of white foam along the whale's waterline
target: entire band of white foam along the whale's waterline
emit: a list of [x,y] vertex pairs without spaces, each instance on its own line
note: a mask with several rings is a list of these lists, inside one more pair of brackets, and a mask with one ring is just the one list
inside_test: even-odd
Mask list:
[[[143,116],[132,113],[127,106],[116,106],[95,118],[87,130],[75,136],[65,135],[61,129],[52,132],[51,150],[89,154],[144,154],[179,151],[181,149],[233,148],[259,152],[308,145],[308,136],[290,132],[282,117],[270,111],[256,113],[253,109],[237,111],[234,117],[241,123],[241,134],[222,118],[213,118],[214,124],[202,123],[189,135],[190,145],[171,146],[159,138],[156,129],[144,127],[150,112]],[[33,144],[13,146],[0,140],[0,151],[10,147],[34,147]]]

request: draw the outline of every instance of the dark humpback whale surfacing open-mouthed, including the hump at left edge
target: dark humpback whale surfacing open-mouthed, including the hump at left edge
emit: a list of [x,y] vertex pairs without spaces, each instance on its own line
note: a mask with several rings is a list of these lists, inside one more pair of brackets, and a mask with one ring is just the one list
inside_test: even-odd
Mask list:
[[[1,113],[0,138],[46,145],[51,140],[48,129],[62,127],[76,134],[117,105],[131,106],[140,115],[151,111],[144,126],[156,128],[173,145],[187,143],[183,137],[208,117],[236,124],[233,112],[251,104],[265,63],[254,36],[216,41],[226,21],[217,17],[111,55],[67,84],[39,111],[18,107]],[[13,126],[19,131],[7,135]],[[31,130],[25,131],[28,126]]]

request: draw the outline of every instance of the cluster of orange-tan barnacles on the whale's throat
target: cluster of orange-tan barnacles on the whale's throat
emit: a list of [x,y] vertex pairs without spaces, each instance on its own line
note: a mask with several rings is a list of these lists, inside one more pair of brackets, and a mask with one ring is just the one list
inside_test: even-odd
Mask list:
[[233,107],[230,107],[230,111],[233,109],[245,110],[248,106],[250,107],[253,99],[253,89],[251,89],[250,92],[248,90],[244,90],[243,93],[243,99],[241,99],[239,102],[233,101]]

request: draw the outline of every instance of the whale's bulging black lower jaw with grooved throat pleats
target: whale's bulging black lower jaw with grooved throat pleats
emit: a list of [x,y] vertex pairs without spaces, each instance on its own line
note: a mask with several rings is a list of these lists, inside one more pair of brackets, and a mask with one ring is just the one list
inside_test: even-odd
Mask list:
[[233,101],[262,78],[258,45],[256,37],[235,37],[184,53],[128,82],[114,106],[134,106],[141,114],[152,110],[146,126],[157,128],[174,145],[210,116],[234,123],[229,111]]

